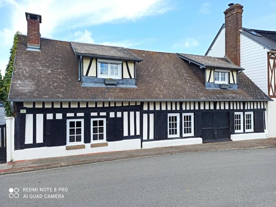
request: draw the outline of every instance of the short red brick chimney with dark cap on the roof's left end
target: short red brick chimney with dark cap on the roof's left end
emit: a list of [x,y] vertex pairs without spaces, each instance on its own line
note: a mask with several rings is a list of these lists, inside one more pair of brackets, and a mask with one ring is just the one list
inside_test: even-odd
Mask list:
[[25,12],[27,20],[27,47],[40,48],[39,24],[41,23],[41,15]]

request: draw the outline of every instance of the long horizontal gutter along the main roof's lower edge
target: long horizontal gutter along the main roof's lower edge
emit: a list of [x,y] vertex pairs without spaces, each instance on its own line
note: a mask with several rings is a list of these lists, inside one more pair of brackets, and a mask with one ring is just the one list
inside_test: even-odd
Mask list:
[[148,102],[148,101],[227,101],[227,102],[241,102],[241,101],[273,101],[272,99],[7,99],[8,102],[105,102],[105,101],[121,101],[121,102],[129,102],[129,101],[140,101],[140,102]]

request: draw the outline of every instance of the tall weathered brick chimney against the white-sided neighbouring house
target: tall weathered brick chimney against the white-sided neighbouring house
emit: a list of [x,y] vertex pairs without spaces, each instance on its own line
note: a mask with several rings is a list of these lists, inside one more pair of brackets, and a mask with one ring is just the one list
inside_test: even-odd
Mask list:
[[240,29],[243,6],[240,4],[229,4],[225,14],[225,55],[234,64],[241,65],[240,51]]

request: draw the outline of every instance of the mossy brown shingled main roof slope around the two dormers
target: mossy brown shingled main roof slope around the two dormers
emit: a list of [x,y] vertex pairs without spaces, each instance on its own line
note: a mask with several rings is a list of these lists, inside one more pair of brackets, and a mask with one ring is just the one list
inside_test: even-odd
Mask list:
[[198,65],[176,53],[135,49],[129,51],[143,57],[136,64],[138,88],[81,87],[70,42],[41,38],[40,45],[41,52],[26,50],[26,36],[19,35],[9,100],[271,100],[244,73],[237,90],[206,89],[193,72],[204,70]]

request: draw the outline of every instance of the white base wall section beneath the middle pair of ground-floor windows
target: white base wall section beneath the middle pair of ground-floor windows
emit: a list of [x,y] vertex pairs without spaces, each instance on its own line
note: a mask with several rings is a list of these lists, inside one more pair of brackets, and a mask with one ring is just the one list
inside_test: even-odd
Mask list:
[[150,142],[143,142],[143,149],[155,148],[155,147],[170,147],[178,145],[194,145],[202,144],[202,138],[186,138],[186,139],[168,139],[168,140],[157,140]]

